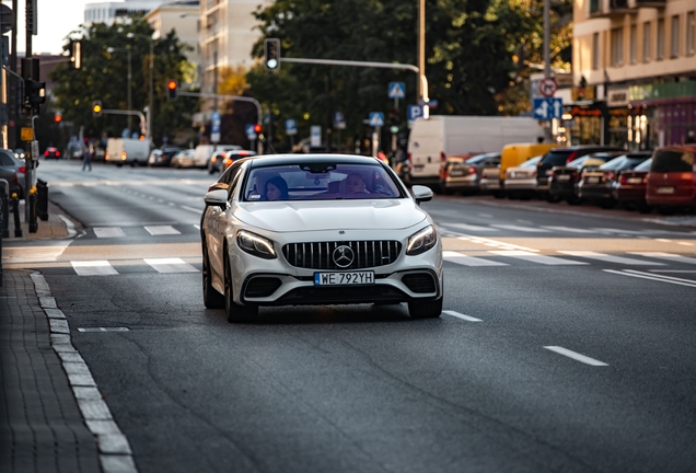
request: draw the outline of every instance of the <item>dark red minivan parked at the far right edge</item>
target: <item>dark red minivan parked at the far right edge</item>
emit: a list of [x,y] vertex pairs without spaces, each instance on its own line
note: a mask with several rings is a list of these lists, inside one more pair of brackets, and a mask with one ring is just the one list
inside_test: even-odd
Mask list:
[[652,153],[646,200],[661,214],[696,208],[696,147],[664,147]]

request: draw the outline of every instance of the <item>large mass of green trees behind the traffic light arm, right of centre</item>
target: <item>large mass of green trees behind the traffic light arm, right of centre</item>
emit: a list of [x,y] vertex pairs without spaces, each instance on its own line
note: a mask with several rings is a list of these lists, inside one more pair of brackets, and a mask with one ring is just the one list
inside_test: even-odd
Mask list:
[[[437,114],[496,115],[529,109],[530,62],[541,62],[543,0],[427,0],[426,74]],[[568,15],[572,0],[554,2],[553,62],[569,66]],[[418,64],[418,1],[276,0],[256,12],[263,37],[281,39],[283,57]],[[565,30],[564,30],[565,28]],[[560,31],[560,33],[559,33]],[[275,122],[294,118],[299,137],[311,125],[332,128],[333,112],[344,112],[344,137],[371,131],[370,112],[386,113],[388,82],[406,83],[399,101],[401,128],[406,104],[417,102],[417,77],[397,69],[281,62],[278,73],[259,65],[247,73],[252,94]],[[526,89],[524,89],[526,86]],[[276,139],[285,139],[276,134]]]

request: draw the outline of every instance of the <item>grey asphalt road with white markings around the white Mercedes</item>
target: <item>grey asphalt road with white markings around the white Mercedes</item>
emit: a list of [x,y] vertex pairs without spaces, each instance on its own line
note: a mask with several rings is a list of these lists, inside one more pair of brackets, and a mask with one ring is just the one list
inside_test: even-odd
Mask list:
[[696,229],[438,196],[424,207],[444,235],[440,319],[290,307],[232,325],[202,305],[207,172],[39,174],[85,230],[24,267],[44,274],[141,472],[696,465]]

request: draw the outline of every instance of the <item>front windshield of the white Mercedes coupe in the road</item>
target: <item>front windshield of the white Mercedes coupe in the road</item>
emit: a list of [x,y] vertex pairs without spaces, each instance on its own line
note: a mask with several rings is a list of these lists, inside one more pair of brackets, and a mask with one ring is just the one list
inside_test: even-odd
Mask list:
[[388,172],[376,163],[309,163],[253,168],[241,195],[245,201],[404,197]]

